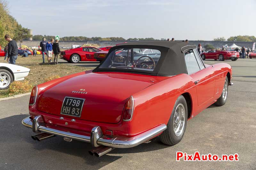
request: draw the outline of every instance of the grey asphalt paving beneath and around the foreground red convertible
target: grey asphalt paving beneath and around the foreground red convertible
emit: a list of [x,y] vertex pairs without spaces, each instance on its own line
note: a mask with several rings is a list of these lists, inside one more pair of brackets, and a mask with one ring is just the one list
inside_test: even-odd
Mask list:
[[[233,68],[227,103],[214,105],[188,121],[185,136],[175,146],[154,138],[148,144],[115,149],[96,158],[89,143],[61,137],[37,142],[21,125],[28,115],[29,96],[0,101],[0,169],[256,169],[256,59],[224,61]],[[206,60],[205,63],[220,63]],[[79,63],[81,66],[97,63]],[[176,152],[235,154],[238,162],[176,161]]]

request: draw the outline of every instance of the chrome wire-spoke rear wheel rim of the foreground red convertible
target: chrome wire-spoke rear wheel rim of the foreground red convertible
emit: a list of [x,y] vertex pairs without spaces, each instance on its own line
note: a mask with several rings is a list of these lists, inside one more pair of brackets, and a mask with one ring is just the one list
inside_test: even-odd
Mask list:
[[173,116],[173,131],[176,136],[180,136],[184,130],[185,124],[185,107],[183,104],[179,104],[176,107]]

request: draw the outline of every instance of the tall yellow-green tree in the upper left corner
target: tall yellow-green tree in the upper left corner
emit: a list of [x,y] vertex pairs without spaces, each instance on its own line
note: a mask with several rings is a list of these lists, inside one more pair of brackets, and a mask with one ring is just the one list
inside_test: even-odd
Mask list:
[[31,37],[28,28],[23,28],[8,11],[6,1],[0,0],[0,45],[5,46],[7,41],[4,35],[9,34],[13,40],[22,41]]

